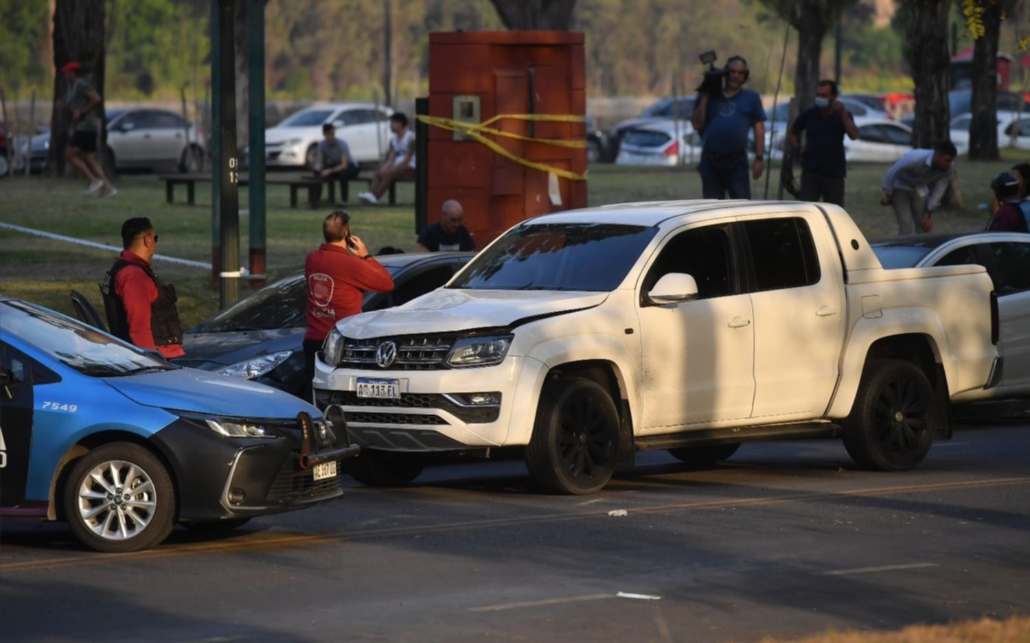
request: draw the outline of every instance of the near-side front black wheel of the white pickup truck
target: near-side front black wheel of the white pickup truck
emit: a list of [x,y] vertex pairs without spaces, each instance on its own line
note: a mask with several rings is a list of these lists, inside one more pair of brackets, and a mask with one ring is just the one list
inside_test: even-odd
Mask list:
[[525,463],[534,484],[547,493],[592,494],[615,472],[619,410],[605,387],[566,378],[541,394]]

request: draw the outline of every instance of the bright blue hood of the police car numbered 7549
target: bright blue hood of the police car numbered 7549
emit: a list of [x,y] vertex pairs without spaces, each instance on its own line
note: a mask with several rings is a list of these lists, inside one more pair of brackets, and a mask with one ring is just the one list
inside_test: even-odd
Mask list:
[[195,368],[175,368],[105,378],[111,388],[144,406],[231,418],[320,417],[304,400],[272,387]]

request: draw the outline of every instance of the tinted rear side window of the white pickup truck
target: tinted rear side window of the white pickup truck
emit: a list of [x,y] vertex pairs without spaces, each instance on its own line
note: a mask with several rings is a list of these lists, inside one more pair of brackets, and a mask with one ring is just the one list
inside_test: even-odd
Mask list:
[[745,221],[755,290],[797,288],[819,282],[819,260],[804,219]]

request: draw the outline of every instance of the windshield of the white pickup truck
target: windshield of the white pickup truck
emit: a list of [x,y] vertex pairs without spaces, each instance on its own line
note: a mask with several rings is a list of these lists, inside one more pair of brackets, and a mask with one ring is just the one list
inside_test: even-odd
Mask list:
[[484,250],[448,287],[609,291],[657,228],[612,223],[528,223]]

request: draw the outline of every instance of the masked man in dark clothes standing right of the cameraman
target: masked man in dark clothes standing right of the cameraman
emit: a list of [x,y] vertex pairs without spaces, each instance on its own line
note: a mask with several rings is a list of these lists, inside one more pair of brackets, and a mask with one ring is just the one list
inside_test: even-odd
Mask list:
[[[837,85],[832,80],[820,80],[816,88],[816,105],[794,120],[787,132],[787,144],[801,155],[801,201],[825,201],[844,206],[844,179],[848,165],[844,156],[844,136],[855,140],[858,128],[844,104],[836,100]],[[804,147],[798,137],[804,133]]]

